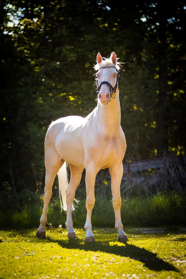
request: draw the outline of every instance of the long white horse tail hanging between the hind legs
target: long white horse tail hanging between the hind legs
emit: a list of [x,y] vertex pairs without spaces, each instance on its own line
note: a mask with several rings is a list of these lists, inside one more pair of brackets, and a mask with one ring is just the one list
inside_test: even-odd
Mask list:
[[[59,198],[60,198],[61,210],[67,211],[66,190],[69,185],[69,180],[68,180],[66,162],[64,162],[64,164],[58,171],[58,183],[59,183]],[[76,199],[74,199],[74,202],[78,203]],[[72,204],[72,210],[75,210],[74,204]]]

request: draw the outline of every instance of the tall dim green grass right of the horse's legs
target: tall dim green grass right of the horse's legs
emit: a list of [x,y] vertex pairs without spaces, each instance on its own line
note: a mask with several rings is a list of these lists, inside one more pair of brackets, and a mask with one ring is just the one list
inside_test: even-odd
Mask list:
[[186,194],[159,193],[149,198],[130,198],[121,206],[127,226],[185,226]]

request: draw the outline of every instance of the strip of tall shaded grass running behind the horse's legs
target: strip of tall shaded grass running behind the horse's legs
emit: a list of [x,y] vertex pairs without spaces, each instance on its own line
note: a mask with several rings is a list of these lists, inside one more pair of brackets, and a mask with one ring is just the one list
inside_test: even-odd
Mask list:
[[[26,196],[26,195],[25,195]],[[3,196],[0,201],[1,228],[37,228],[42,214],[41,197],[37,194],[25,199],[22,207],[20,202],[9,203],[3,206]],[[21,197],[20,197],[21,198]],[[79,198],[77,196],[77,198]],[[86,220],[85,199],[79,198],[80,202],[72,219],[75,227],[83,227]],[[6,199],[5,199],[6,201]],[[104,209],[104,210],[103,210]],[[186,226],[186,195],[176,192],[146,198],[131,197],[127,200],[123,197],[121,203],[121,219],[124,226]],[[66,214],[61,212],[59,197],[53,197],[49,203],[47,214],[48,223],[57,228],[58,224],[65,225]],[[111,199],[96,196],[96,202],[92,211],[92,226],[112,227],[115,226],[115,214]]]

